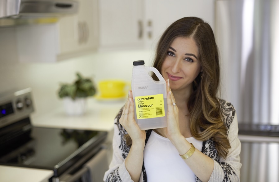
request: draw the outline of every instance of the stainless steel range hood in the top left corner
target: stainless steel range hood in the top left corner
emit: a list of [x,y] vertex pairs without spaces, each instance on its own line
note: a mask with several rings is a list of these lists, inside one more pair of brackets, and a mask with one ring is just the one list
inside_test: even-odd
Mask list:
[[78,12],[75,0],[0,0],[0,26],[53,23]]

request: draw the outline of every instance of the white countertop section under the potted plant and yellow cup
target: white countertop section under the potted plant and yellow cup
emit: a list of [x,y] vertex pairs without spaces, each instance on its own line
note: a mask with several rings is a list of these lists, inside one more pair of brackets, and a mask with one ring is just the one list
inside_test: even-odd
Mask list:
[[40,117],[32,117],[35,127],[55,127],[83,130],[111,131],[117,113],[124,105],[122,100],[87,100],[87,110],[82,116],[68,116],[64,108],[58,108]]

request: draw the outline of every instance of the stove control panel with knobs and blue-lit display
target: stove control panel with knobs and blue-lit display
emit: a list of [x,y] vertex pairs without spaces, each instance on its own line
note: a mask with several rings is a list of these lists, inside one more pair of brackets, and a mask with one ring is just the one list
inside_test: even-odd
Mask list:
[[0,95],[0,128],[28,117],[34,111],[31,88]]

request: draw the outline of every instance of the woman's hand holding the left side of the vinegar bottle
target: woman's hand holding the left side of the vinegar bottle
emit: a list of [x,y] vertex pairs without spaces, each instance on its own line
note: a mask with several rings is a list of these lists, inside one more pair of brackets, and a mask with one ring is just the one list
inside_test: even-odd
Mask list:
[[132,144],[145,143],[146,133],[144,130],[139,129],[139,125],[134,118],[134,100],[131,90],[129,90],[128,99],[126,100],[119,123],[130,135]]

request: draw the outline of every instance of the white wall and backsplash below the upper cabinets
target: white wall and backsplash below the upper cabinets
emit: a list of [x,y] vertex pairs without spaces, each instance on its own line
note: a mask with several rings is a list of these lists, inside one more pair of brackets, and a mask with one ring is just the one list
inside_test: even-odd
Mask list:
[[59,84],[73,82],[77,71],[85,77],[92,77],[96,83],[102,79],[131,81],[132,62],[135,60],[145,60],[146,66],[151,66],[153,55],[150,51],[92,52],[55,63],[20,63],[15,29],[0,28],[0,95],[31,87],[36,109],[34,114],[44,114],[60,107]]

